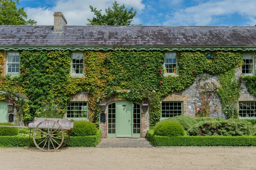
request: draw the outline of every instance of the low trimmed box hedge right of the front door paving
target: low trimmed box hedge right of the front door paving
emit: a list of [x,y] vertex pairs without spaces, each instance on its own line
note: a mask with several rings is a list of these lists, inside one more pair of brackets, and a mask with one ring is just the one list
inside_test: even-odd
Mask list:
[[178,136],[154,135],[148,130],[148,140],[155,146],[256,146],[255,136]]

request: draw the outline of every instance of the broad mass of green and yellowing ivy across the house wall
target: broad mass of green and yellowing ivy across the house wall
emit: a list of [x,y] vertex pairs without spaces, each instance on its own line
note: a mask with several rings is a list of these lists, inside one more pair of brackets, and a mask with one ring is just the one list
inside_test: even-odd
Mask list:
[[[96,123],[99,123],[100,113],[97,99],[116,96],[129,101],[148,101],[150,125],[153,126],[161,116],[162,97],[192,85],[197,74],[233,74],[230,70],[243,64],[241,52],[210,53],[212,59],[206,58],[208,52],[178,52],[178,76],[164,76],[165,55],[161,51],[85,51],[84,77],[72,78],[69,75],[70,51],[23,50],[20,52],[20,75],[0,77],[0,90],[10,89],[27,95],[31,115],[45,102],[59,105],[60,114],[64,114],[70,96],[86,91],[91,95],[89,116]],[[231,81],[231,77],[227,79]],[[231,91],[232,88],[231,96],[237,95]]]

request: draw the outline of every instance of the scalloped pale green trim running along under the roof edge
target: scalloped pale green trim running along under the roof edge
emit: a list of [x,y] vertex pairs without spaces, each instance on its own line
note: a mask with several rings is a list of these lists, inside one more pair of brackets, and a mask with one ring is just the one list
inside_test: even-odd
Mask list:
[[256,46],[0,46],[0,50],[94,50],[94,51],[108,51],[108,50],[134,50],[134,51],[152,51],[152,50],[158,50],[158,51],[183,51],[183,50],[190,50],[190,51],[196,51],[196,50],[209,50],[209,51],[215,51],[215,50],[256,50]]

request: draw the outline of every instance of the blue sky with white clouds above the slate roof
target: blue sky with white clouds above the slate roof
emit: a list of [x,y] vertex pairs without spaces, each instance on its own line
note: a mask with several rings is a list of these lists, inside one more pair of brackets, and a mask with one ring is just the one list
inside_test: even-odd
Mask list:
[[[93,13],[89,5],[102,9],[114,0],[20,0],[28,18],[37,25],[53,25],[53,12],[60,11],[68,25],[85,25]],[[133,24],[144,26],[254,26],[256,0],[117,0],[137,11]]]

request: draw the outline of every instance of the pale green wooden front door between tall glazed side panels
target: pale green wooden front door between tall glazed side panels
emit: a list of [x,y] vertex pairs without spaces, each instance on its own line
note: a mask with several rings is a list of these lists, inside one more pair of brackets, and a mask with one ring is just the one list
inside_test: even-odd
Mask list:
[[116,102],[116,137],[132,137],[131,102]]

